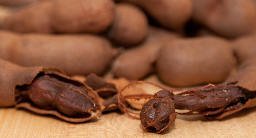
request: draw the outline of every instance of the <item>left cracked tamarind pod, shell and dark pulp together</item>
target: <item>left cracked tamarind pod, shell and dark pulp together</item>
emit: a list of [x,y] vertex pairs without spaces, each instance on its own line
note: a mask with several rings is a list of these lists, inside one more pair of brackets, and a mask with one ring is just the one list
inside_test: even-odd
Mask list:
[[26,108],[69,122],[101,115],[97,93],[58,69],[22,67],[0,59],[0,70],[0,107]]

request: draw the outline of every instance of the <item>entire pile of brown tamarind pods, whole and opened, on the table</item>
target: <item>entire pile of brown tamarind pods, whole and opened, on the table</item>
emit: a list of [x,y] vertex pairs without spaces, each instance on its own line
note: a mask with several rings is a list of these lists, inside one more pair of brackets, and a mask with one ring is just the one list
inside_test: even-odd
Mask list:
[[[222,118],[256,106],[256,1],[0,0],[0,71],[1,107],[66,121],[117,108],[134,117],[129,100],[144,98],[145,130],[163,131],[185,107]],[[171,87],[205,86],[124,95],[151,74]]]

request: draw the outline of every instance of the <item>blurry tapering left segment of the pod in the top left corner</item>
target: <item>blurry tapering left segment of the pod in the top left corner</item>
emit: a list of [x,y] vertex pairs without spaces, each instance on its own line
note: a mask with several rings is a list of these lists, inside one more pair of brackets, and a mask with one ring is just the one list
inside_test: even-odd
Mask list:
[[13,12],[3,21],[2,29],[28,33],[53,33],[50,15],[53,1],[41,1]]

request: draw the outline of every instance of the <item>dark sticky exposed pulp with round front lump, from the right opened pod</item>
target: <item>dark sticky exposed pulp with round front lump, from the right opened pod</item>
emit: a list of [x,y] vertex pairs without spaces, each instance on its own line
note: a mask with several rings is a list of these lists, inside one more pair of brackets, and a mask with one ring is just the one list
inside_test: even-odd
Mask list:
[[[144,130],[159,133],[176,119],[175,109],[188,109],[187,115],[200,114],[209,118],[222,118],[243,108],[255,107],[256,93],[236,84],[209,84],[195,89],[162,90],[143,105],[140,112]],[[143,98],[143,96],[141,96]]]

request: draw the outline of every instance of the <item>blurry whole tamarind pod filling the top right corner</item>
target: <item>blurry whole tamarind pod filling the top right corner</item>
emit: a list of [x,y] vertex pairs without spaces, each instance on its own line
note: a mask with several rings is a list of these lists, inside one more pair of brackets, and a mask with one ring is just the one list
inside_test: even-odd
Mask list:
[[256,5],[251,0],[192,0],[192,19],[218,35],[235,38],[256,32]]

